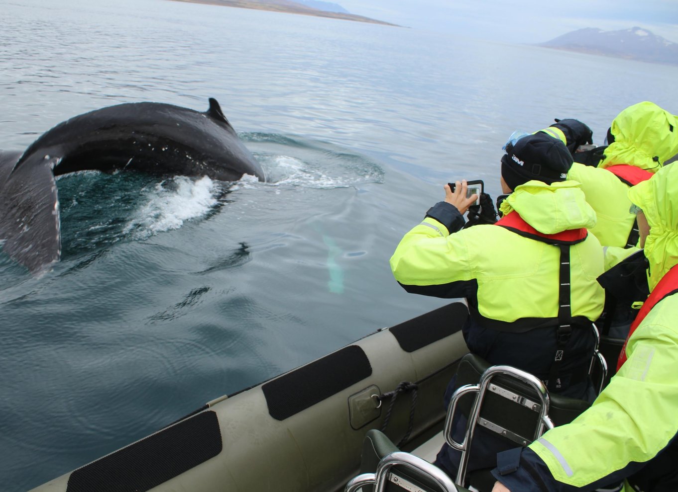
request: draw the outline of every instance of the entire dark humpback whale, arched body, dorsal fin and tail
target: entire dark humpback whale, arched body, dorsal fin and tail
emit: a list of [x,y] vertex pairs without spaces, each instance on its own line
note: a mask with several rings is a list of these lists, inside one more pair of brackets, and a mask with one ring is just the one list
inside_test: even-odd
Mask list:
[[0,250],[41,275],[60,261],[56,177],[77,171],[266,175],[216,99],[205,112],[158,102],[118,104],[61,122],[24,152],[0,150]]

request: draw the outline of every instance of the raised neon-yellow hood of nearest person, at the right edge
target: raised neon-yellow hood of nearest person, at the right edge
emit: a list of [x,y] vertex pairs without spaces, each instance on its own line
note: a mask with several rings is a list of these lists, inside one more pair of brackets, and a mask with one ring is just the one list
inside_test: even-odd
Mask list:
[[643,210],[650,225],[644,249],[650,261],[652,290],[678,265],[678,166],[666,166],[651,179],[629,188],[629,199]]

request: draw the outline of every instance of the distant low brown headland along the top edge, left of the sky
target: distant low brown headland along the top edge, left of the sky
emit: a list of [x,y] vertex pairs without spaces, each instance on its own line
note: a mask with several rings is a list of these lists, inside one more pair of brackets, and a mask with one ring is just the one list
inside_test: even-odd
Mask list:
[[[397,26],[390,22],[383,22],[369,17],[356,16],[348,14],[341,5],[323,1],[313,0],[176,0],[191,3],[209,3],[211,5],[224,5],[224,7],[240,7],[243,9],[272,10],[274,12],[287,12],[288,14],[302,14],[304,16],[330,17],[334,19],[355,20],[357,22],[370,22],[372,24],[385,24],[386,26]],[[306,4],[322,4],[321,8],[311,7]],[[330,10],[334,8],[334,10]],[[338,9],[341,9],[339,11]],[[397,26],[399,27],[399,26]]]

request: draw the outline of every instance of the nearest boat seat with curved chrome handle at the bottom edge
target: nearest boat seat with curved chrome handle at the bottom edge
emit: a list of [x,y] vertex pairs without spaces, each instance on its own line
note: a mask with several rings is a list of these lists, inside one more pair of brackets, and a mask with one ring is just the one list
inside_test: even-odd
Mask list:
[[[375,472],[365,472],[372,464]],[[437,466],[404,451],[399,451],[380,430],[365,436],[361,474],[352,478],[344,492],[468,492],[454,485]]]

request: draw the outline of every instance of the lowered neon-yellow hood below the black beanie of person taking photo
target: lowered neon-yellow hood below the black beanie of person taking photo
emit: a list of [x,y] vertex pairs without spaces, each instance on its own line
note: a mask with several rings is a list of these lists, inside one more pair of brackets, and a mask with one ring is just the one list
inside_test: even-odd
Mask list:
[[586,203],[577,181],[560,181],[547,185],[527,181],[516,187],[500,206],[504,215],[515,210],[542,234],[555,234],[596,223],[595,211]]

